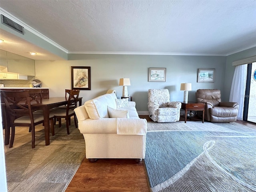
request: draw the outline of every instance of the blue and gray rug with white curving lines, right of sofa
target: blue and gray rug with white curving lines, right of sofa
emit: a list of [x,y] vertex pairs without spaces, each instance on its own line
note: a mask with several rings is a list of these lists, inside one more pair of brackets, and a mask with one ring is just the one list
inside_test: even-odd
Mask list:
[[255,192],[256,129],[148,122],[144,161],[152,192]]

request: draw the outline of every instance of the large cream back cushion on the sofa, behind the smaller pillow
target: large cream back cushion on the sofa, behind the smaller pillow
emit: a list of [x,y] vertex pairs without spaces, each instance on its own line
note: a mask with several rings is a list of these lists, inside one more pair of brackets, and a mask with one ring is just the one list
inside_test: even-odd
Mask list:
[[116,94],[104,94],[84,103],[90,119],[109,118],[108,106],[116,109]]

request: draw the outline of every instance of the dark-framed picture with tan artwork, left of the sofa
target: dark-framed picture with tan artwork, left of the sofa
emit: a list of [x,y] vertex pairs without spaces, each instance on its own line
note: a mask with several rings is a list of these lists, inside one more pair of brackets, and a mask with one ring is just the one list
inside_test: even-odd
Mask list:
[[72,89],[91,90],[91,67],[71,66]]

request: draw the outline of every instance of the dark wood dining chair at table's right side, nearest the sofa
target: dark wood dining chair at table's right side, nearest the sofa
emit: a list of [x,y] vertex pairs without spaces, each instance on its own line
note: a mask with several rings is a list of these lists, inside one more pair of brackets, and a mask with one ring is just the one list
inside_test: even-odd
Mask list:
[[74,122],[77,128],[76,114],[74,112],[74,108],[76,108],[77,106],[79,93],[80,93],[80,90],[70,90],[66,110],[58,109],[50,112],[50,114],[53,114],[55,118],[58,120],[59,127],[61,127],[61,119],[65,118],[68,135],[69,135],[70,119],[72,116],[74,116]]

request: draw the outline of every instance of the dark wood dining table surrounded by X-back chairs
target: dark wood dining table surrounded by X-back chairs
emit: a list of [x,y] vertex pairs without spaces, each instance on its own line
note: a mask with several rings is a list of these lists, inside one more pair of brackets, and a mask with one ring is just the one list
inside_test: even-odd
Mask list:
[[[66,97],[50,97],[48,99],[42,99],[40,102],[32,100],[31,107],[34,110],[43,110],[44,113],[44,134],[45,134],[45,145],[50,144],[50,109],[63,106],[68,103]],[[78,98],[79,106],[82,105],[82,97]],[[6,141],[5,141],[6,143]]]

